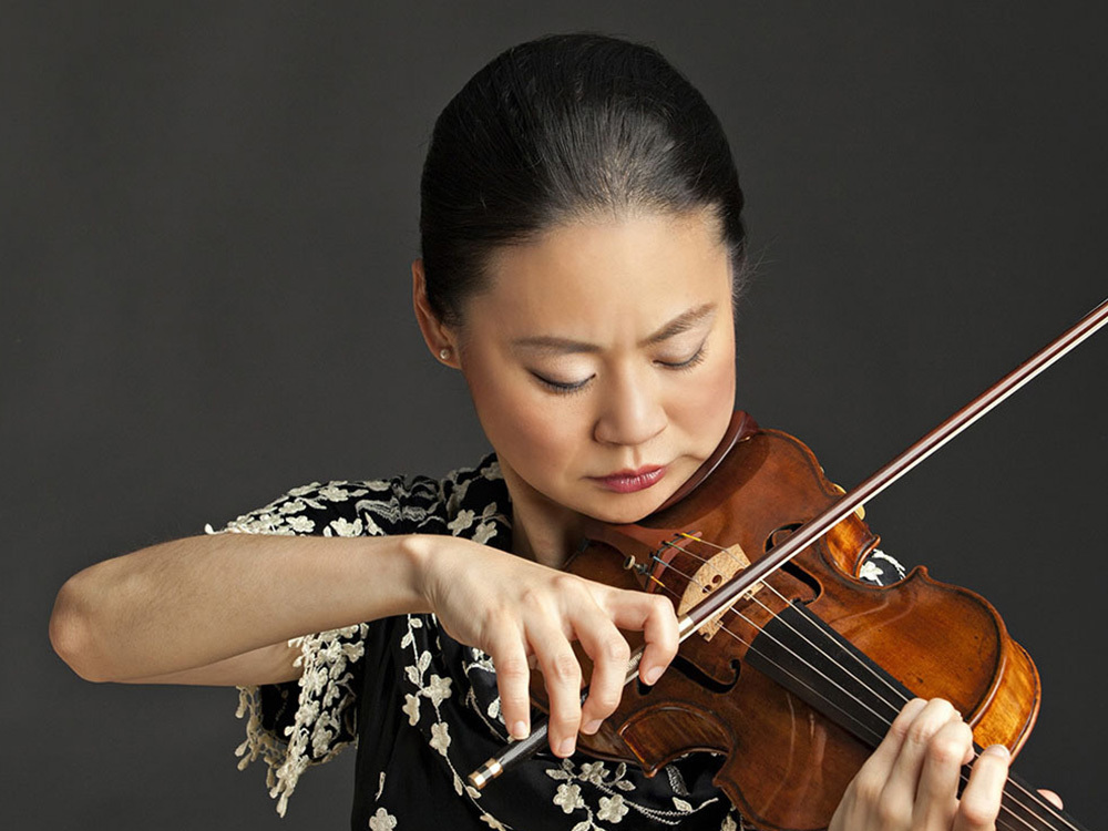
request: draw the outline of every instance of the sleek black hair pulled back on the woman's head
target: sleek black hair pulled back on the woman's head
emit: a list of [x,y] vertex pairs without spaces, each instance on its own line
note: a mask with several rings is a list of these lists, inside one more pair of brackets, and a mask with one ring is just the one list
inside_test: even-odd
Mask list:
[[710,208],[736,280],[742,191],[724,129],[655,49],[598,34],[513,47],[434,124],[420,234],[428,300],[448,324],[490,255],[597,212]]

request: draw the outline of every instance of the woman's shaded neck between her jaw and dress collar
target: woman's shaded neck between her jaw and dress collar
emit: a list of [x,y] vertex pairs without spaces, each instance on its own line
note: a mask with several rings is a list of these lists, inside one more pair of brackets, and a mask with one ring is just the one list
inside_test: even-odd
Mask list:
[[500,465],[512,496],[512,552],[562,568],[581,542],[581,515],[541,494],[503,461]]

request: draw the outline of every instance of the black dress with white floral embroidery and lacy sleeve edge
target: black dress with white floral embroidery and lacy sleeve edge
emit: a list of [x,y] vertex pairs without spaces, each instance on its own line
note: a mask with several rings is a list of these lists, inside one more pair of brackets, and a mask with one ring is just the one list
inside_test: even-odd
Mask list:
[[[453,534],[511,551],[511,514],[490,455],[443,480],[297,488],[220,533]],[[880,552],[863,571],[881,583],[901,576]],[[297,681],[240,688],[238,715],[248,720],[239,767],[257,758],[268,763],[278,813],[307,767],[356,743],[352,829],[742,828],[711,784],[719,760],[701,753],[649,779],[635,766],[538,753],[483,791],[470,787],[466,774],[506,741],[496,677],[489,656],[453,640],[434,615],[388,617],[296,643],[304,669]]]

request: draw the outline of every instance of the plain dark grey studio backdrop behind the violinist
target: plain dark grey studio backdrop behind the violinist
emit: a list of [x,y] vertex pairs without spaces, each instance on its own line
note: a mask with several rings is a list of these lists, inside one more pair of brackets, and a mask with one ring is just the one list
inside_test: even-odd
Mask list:
[[[353,752],[279,821],[233,690],[92,685],[75,571],[312,480],[485,450],[410,312],[434,116],[503,48],[649,41],[719,113],[755,280],[739,403],[851,485],[1108,295],[1092,3],[6,3],[0,535],[12,829],[345,828]],[[1049,9],[1049,10],[1048,10]],[[1108,335],[869,506],[1035,657],[1017,768],[1104,794]]]

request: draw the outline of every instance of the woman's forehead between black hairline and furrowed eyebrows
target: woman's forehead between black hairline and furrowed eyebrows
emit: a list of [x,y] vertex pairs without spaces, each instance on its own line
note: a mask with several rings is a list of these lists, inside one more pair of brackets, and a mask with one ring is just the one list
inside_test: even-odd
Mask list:
[[589,217],[501,248],[469,324],[513,334],[639,336],[706,302],[730,305],[730,263],[709,212]]

